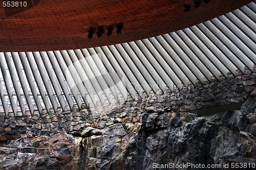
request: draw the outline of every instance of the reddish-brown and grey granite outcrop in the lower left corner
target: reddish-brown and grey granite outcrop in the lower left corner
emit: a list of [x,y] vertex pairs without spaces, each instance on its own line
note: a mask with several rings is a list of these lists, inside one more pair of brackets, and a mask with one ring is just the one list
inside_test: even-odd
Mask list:
[[2,143],[0,169],[72,169],[76,146],[66,133]]

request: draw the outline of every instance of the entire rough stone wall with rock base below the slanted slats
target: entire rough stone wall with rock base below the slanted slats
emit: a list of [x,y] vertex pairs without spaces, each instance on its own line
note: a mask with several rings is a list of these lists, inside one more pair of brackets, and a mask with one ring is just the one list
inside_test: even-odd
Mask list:
[[[255,84],[256,69],[121,105],[0,114],[0,169],[153,169],[154,162],[255,157]],[[187,113],[240,102],[240,111]]]

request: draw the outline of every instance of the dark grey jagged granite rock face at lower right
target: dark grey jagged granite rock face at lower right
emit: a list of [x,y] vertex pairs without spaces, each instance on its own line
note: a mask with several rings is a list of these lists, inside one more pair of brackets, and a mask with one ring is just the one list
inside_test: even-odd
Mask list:
[[[247,101],[254,106],[248,106]],[[145,113],[139,132],[126,147],[124,169],[154,169],[154,163],[222,165],[230,158],[255,158],[254,124],[248,117],[256,114],[249,113],[256,108],[256,98],[247,101],[241,108],[246,108],[244,112],[226,111],[208,116],[163,113],[155,118],[154,129],[148,126],[148,122],[152,124],[153,113]],[[163,120],[159,118],[162,115],[166,117]]]

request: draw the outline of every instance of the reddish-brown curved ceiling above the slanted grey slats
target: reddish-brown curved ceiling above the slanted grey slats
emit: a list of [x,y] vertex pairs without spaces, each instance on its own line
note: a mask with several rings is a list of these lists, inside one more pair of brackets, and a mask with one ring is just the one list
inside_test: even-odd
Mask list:
[[[135,41],[194,26],[252,1],[196,0],[200,3],[197,8],[195,1],[188,0],[18,2],[19,7],[4,7],[8,4],[2,1],[0,52],[69,50]],[[113,27],[110,36],[106,35],[109,27]],[[121,34],[117,35],[117,29]]]

